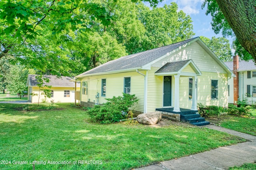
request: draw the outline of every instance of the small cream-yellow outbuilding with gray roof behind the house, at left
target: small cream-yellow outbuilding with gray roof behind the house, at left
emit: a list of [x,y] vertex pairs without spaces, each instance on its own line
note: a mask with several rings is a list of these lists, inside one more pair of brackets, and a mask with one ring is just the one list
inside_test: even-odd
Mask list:
[[[43,102],[45,100],[43,91],[40,90],[37,86],[39,82],[36,79],[36,74],[29,74],[27,79],[27,87],[28,87],[28,101],[32,103]],[[50,100],[54,100],[54,102],[75,102],[75,82],[72,82],[72,78],[62,76],[58,78],[53,75],[44,75],[44,78],[48,78],[50,80],[49,83],[44,83],[45,85],[52,86],[50,88],[51,98],[46,98],[46,102],[50,102]],[[78,84],[78,90],[80,90],[80,83]],[[30,95],[30,94],[37,95]],[[39,95],[40,94],[40,95]]]

